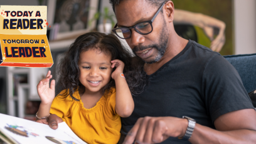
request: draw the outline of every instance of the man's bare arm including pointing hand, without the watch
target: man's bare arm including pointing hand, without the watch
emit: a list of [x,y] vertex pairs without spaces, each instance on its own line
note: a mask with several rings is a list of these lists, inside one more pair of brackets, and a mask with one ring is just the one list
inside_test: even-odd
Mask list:
[[[255,143],[256,112],[253,109],[232,111],[215,120],[216,130],[196,124],[191,143]],[[174,117],[140,118],[127,134],[124,143],[160,143],[169,136],[182,137],[188,120]]]

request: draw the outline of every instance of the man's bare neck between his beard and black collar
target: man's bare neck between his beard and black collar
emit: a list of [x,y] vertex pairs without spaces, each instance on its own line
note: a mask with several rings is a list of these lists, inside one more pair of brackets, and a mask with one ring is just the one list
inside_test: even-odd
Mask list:
[[185,48],[186,44],[188,44],[188,40],[183,39],[179,37],[178,34],[176,34],[168,41],[168,47],[166,48],[164,56],[156,63],[144,64],[144,71],[147,73],[147,75],[152,75],[165,63],[167,63],[168,61],[173,59],[174,56],[179,54]]

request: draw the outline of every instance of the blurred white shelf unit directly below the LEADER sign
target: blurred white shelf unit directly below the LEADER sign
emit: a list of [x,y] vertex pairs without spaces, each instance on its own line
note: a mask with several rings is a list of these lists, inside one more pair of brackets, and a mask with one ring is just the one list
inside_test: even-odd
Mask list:
[[[39,81],[45,77],[48,68],[11,68],[8,73],[8,115],[24,118],[26,113],[26,104],[28,101],[36,101],[40,105],[40,98],[36,86]],[[36,106],[36,107],[39,107]],[[33,111],[36,113],[36,111]],[[27,116],[29,117],[29,115]],[[35,116],[26,118],[35,120]]]

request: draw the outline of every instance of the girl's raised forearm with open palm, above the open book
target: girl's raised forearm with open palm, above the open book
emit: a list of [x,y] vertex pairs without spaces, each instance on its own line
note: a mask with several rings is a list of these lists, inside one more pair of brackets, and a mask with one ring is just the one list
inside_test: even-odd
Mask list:
[[[48,71],[45,79],[41,80],[37,86],[38,95],[41,99],[41,104],[37,113],[39,118],[50,115],[51,103],[55,98],[55,80],[51,81],[51,86],[49,87],[49,81],[51,78],[51,71]],[[38,118],[36,118],[36,120],[38,120]]]

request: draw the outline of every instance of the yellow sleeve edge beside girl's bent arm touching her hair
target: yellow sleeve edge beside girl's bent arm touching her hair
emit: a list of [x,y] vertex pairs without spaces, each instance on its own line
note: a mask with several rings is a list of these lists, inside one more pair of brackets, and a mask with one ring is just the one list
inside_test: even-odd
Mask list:
[[111,88],[109,95],[107,95],[107,108],[110,111],[110,113],[108,113],[109,118],[117,115],[117,112],[115,111],[115,94],[115,88]]

